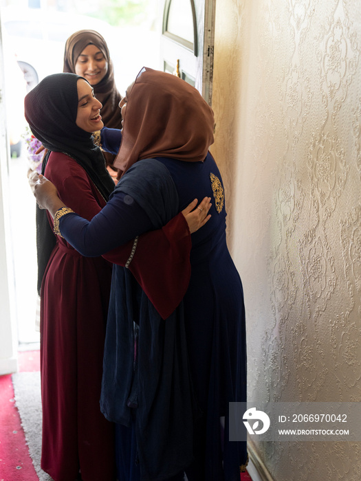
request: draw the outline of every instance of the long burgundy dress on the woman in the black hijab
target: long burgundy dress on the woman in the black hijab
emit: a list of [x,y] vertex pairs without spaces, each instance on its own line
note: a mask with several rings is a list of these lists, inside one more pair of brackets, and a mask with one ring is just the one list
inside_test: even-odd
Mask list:
[[[92,219],[105,199],[74,159],[53,152],[47,179]],[[50,219],[52,225],[52,219]],[[111,263],[85,258],[57,236],[41,295],[41,467],[56,481],[115,479],[113,424],[100,412]]]

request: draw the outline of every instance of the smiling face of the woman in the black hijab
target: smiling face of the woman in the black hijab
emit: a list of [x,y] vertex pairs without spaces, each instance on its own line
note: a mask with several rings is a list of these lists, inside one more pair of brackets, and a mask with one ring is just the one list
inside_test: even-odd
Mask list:
[[78,80],[77,88],[78,113],[76,114],[76,125],[89,133],[100,131],[104,126],[100,116],[102,104],[95,98],[91,85],[83,78]]

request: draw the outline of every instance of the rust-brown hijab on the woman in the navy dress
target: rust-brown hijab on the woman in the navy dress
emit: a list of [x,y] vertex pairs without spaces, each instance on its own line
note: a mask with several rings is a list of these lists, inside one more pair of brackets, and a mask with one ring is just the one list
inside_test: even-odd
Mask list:
[[184,80],[144,67],[127,92],[122,144],[114,166],[126,172],[136,161],[171,157],[203,161],[213,143],[213,111]]

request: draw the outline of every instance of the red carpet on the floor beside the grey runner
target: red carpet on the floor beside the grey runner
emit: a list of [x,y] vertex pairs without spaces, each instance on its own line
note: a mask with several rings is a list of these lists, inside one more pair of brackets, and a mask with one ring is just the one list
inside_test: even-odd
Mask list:
[[[39,351],[19,353],[20,372],[39,370]],[[39,481],[14,404],[11,374],[0,376],[0,481]],[[247,472],[241,473],[241,481],[252,481],[252,478]]]

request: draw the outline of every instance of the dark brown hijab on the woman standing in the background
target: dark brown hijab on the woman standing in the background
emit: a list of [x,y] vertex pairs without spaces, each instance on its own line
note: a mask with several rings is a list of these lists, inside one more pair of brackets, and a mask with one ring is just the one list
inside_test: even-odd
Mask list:
[[122,115],[118,104],[122,96],[116,88],[114,80],[113,62],[109,55],[109,49],[105,39],[95,30],[79,30],[67,39],[64,51],[64,72],[75,74],[75,64],[78,56],[87,45],[96,45],[105,56],[108,63],[108,71],[102,80],[94,87],[96,98],[102,102],[102,121],[106,127],[122,128]]

